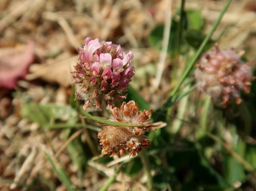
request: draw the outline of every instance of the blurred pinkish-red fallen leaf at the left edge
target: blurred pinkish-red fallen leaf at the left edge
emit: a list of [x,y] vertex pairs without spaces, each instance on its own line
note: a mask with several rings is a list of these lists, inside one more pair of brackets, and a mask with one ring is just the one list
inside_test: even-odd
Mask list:
[[24,78],[34,60],[34,43],[0,49],[0,87],[13,89],[18,79]]

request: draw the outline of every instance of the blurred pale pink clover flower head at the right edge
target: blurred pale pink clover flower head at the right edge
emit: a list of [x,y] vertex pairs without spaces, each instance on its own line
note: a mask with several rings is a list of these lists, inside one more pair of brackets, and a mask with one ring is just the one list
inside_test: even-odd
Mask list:
[[197,65],[198,87],[210,94],[217,105],[226,107],[233,100],[240,104],[240,91],[250,91],[252,70],[240,57],[234,49],[220,50],[215,45],[215,50],[205,53]]

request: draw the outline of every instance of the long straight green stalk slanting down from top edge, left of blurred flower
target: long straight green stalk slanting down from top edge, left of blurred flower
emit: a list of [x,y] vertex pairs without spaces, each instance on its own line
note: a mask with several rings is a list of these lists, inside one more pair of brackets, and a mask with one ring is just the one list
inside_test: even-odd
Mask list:
[[171,94],[170,94],[171,96],[173,96],[173,95],[175,95],[177,93],[177,91],[180,88],[181,84],[183,83],[185,78],[188,76],[188,74],[192,70],[193,66],[197,62],[198,57],[201,55],[201,53],[203,52],[203,49],[205,48],[207,42],[210,40],[211,36],[213,35],[213,32],[216,30],[217,26],[220,24],[221,18],[223,17],[223,15],[225,14],[226,10],[228,9],[228,6],[230,5],[231,1],[232,0],[227,0],[223,10],[220,13],[219,18],[215,21],[213,27],[211,28],[211,31],[209,32],[209,34],[203,40],[203,42],[200,45],[199,49],[195,53],[195,56],[188,63],[188,66],[185,68],[185,71],[182,73],[182,76],[180,77],[180,80],[178,81],[178,84],[175,86],[175,88],[171,92]]

